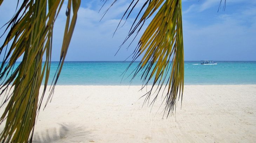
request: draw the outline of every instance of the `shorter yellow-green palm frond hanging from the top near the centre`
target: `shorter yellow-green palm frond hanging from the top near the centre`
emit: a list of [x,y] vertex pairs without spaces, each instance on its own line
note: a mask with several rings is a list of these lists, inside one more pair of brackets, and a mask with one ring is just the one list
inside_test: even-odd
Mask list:
[[[121,21],[131,15],[138,2],[139,0],[132,0]],[[164,114],[167,113],[168,116],[173,112],[176,100],[180,96],[182,99],[184,85],[181,0],[146,0],[137,14],[124,43],[132,35],[135,35],[134,40],[146,20],[152,15],[155,16],[144,31],[132,54],[133,60],[130,65],[142,56],[142,60],[134,70],[132,78],[142,72],[141,80],[144,83],[142,88],[153,80],[150,91],[144,95],[144,104],[147,103],[149,106],[154,104],[162,88],[168,89],[164,97]],[[154,92],[156,92],[156,96],[150,101],[150,96]]]

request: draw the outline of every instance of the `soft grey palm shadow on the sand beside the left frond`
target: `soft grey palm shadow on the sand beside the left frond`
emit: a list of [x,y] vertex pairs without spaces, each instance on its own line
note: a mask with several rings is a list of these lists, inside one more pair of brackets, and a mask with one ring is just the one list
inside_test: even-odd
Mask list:
[[59,124],[60,128],[46,129],[43,132],[35,133],[33,143],[55,143],[70,142],[72,138],[79,137],[81,141],[89,140],[89,131],[83,127],[74,126],[72,124]]

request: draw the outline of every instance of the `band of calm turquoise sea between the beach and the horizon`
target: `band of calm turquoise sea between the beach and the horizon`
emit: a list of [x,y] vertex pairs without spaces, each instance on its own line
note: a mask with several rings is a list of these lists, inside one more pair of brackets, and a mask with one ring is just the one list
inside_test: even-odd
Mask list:
[[[217,65],[200,65],[200,61],[186,61],[184,63],[184,84],[256,84],[256,61],[216,62]],[[51,63],[50,81],[52,81],[58,63]],[[129,68],[122,80],[122,73],[129,63],[67,61],[63,65],[57,85],[141,85],[139,76],[132,83],[130,83],[131,76],[129,76],[138,62]]]

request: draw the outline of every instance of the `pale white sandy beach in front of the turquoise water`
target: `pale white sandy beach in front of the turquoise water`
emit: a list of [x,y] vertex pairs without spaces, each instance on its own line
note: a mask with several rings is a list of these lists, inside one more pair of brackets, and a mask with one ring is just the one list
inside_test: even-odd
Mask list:
[[[33,141],[255,142],[256,85],[186,85],[167,119],[143,106],[141,86],[56,86]],[[153,99],[153,98],[152,98]],[[151,110],[151,112],[150,112]],[[0,130],[2,130],[2,126]]]

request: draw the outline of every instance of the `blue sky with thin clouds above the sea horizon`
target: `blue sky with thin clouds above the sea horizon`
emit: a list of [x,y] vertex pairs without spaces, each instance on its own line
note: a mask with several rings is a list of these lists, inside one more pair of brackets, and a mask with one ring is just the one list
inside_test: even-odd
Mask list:
[[[136,13],[145,0],[140,0],[124,26],[113,33],[129,0],[118,0],[100,21],[109,0],[99,12],[103,2],[82,0],[75,31],[66,61],[123,61],[134,50],[142,31],[133,44],[129,42],[114,54],[127,36]],[[10,4],[11,3],[11,4]],[[185,60],[256,60],[256,1],[227,0],[225,11],[217,12],[220,0],[183,0],[183,36]],[[2,26],[14,14],[16,0],[6,0],[0,7]],[[65,27],[63,6],[54,28],[52,60],[58,61]],[[148,24],[148,23],[147,23]],[[146,28],[147,25],[144,25]],[[3,32],[3,29],[0,30]],[[3,42],[3,39],[0,39]],[[0,57],[1,58],[1,57]],[[2,59],[2,58],[1,58]]]

